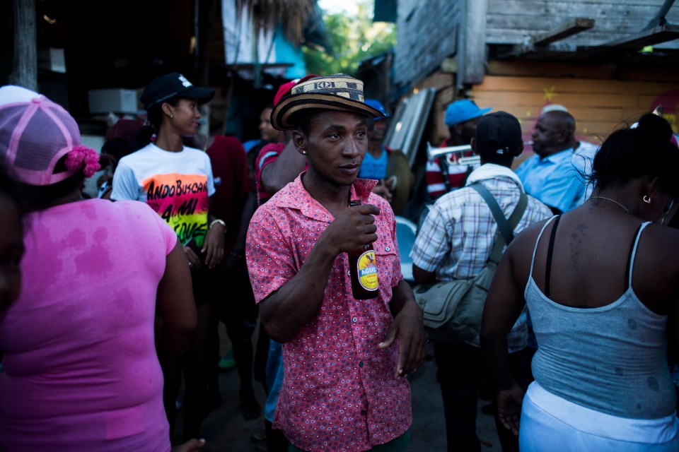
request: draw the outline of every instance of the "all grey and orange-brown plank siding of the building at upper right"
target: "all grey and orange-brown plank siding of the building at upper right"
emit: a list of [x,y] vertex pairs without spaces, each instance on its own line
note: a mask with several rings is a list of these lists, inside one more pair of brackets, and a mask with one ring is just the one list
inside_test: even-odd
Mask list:
[[[615,64],[602,59],[594,64],[562,61],[487,61],[481,83],[460,89],[460,73],[467,61],[455,42],[460,42],[464,24],[464,1],[399,1],[398,44],[395,52],[397,85],[437,89],[424,139],[438,145],[448,136],[443,124],[446,106],[468,96],[479,107],[504,110],[520,121],[525,141],[530,141],[542,108],[562,104],[576,119],[580,140],[601,143],[612,131],[632,124],[658,104],[679,132],[679,78],[675,67],[644,64],[643,55],[634,64]],[[597,46],[635,35],[658,13],[664,0],[484,0],[487,1],[486,44],[523,44],[540,33],[555,30],[569,18],[596,20],[594,28],[559,40],[567,47]],[[402,8],[406,4],[406,8]],[[403,16],[401,16],[403,14]],[[406,20],[407,16],[407,20]],[[445,19],[444,19],[445,18]],[[679,3],[668,12],[669,23],[679,24]],[[417,26],[415,26],[417,25]],[[432,41],[432,36],[437,42]],[[458,41],[455,41],[458,40]],[[678,41],[654,47],[679,49]],[[450,44],[446,47],[447,44]],[[448,54],[446,54],[448,52]],[[657,52],[656,52],[657,53]],[[668,54],[671,52],[668,52]],[[493,54],[492,52],[490,54]],[[448,73],[437,72],[444,58]],[[457,73],[457,74],[455,74]],[[469,89],[470,88],[470,89]],[[532,149],[516,160],[518,165]]]

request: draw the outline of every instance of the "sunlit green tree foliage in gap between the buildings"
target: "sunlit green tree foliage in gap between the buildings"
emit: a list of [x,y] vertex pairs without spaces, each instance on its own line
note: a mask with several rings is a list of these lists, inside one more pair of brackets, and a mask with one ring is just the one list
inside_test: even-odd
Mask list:
[[307,73],[327,75],[346,73],[353,76],[366,58],[393,49],[396,25],[373,23],[373,0],[363,0],[356,16],[347,13],[325,13],[323,20],[330,37],[333,54],[303,47]]

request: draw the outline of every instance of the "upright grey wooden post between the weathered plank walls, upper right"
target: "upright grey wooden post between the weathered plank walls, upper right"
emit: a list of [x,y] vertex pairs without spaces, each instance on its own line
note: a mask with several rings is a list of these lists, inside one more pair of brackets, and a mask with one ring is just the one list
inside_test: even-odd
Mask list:
[[488,0],[463,0],[458,36],[458,89],[482,83],[486,63]]

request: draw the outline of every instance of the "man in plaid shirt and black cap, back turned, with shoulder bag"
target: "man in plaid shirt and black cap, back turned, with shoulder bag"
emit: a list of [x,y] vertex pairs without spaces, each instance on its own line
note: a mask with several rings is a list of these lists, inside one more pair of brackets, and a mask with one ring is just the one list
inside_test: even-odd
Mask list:
[[[521,125],[506,112],[487,114],[477,125],[471,145],[482,165],[469,175],[467,185],[481,182],[509,218],[523,191],[521,180],[510,169],[514,157],[523,151]],[[547,206],[528,196],[526,210],[514,232],[551,214]],[[486,265],[497,232],[490,208],[474,189],[462,188],[441,196],[426,216],[410,254],[415,281],[473,278]],[[507,341],[515,378],[527,386],[523,371],[526,340],[524,312]],[[448,451],[480,451],[476,436],[478,383],[483,369],[479,338],[467,343],[436,342],[434,355],[446,415]],[[502,450],[518,451],[516,436],[499,424],[497,412],[496,424]]]

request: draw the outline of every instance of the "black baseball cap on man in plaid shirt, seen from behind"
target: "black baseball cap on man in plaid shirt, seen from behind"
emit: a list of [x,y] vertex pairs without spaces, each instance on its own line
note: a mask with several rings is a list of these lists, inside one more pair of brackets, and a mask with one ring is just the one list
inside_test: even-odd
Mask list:
[[479,153],[509,154],[523,145],[521,124],[507,112],[484,115],[476,126],[476,148]]

